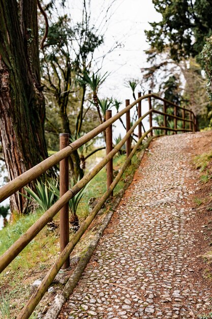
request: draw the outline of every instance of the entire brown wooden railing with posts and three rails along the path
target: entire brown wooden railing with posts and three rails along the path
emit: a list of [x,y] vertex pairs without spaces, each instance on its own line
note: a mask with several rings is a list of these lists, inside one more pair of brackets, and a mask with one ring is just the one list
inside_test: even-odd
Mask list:
[[[152,108],[152,99],[158,99],[163,101],[163,112],[155,110]],[[141,116],[141,101],[148,99],[149,110],[144,115]],[[130,110],[137,104],[138,110],[138,120],[130,127]],[[167,107],[173,107],[173,114],[167,113]],[[163,115],[163,126],[153,126],[153,114]],[[181,113],[181,116],[179,116]],[[186,114],[189,114],[189,119],[186,118]],[[112,124],[118,120],[121,116],[126,114],[126,128],[127,133],[125,137],[113,148],[112,147]],[[178,115],[177,115],[178,114]],[[141,133],[142,120],[146,117],[149,117],[149,129]],[[174,119],[174,128],[167,126],[167,118]],[[177,128],[177,121],[183,122],[183,127]],[[189,123],[189,128],[186,128],[186,123]],[[16,177],[14,180],[10,181],[0,189],[0,202],[20,190],[29,182],[35,180],[43,173],[45,173],[49,168],[60,162],[60,198],[46,211],[44,214],[35,222],[1,257],[0,257],[0,273],[9,265],[9,263],[26,247],[33,238],[44,228],[44,226],[52,220],[52,218],[57,214],[57,212],[62,210],[63,221],[60,223],[60,237],[61,243],[60,248],[61,252],[58,256],[55,263],[52,265],[51,269],[46,274],[45,278],[27,301],[26,305],[21,310],[20,314],[17,316],[17,319],[27,319],[33,313],[34,309],[38,305],[41,298],[44,296],[48,287],[52,283],[56,274],[62,267],[69,267],[69,255],[74,249],[75,245],[80,240],[81,236],[84,234],[90,223],[94,220],[98,211],[101,209],[105,201],[112,194],[115,186],[122,177],[128,165],[131,163],[133,155],[136,153],[136,150],[148,135],[153,137],[154,129],[159,129],[162,131],[162,134],[167,134],[167,131],[173,131],[174,134],[177,132],[191,132],[196,131],[197,128],[196,116],[195,114],[186,108],[179,107],[172,103],[171,101],[165,100],[155,94],[149,92],[149,94],[141,96],[138,94],[138,99],[130,104],[129,100],[126,100],[126,108],[114,116],[111,117],[111,111],[106,113],[106,121],[99,125],[97,128],[88,132],[83,137],[79,138],[75,142],[66,146],[67,136],[62,134],[61,140],[61,150],[55,153],[54,155],[48,157],[40,164],[36,165],[32,169],[26,171],[20,176]],[[131,136],[138,126],[138,142],[131,148]],[[96,165],[87,175],[85,175],[79,182],[77,182],[71,190],[67,190],[68,181],[64,180],[67,176],[68,165],[66,159],[71,153],[78,149],[80,146],[90,141],[101,132],[106,130],[106,156],[102,161]],[[126,143],[126,152],[127,158],[126,162],[123,165],[122,169],[118,172],[117,176],[113,179],[113,170],[112,170],[112,158],[115,154],[122,148]],[[71,198],[73,198],[85,185],[94,178],[95,175],[107,165],[107,192],[100,198],[97,205],[94,207],[92,212],[88,217],[82,222],[78,231],[72,236],[69,240],[69,210],[67,203]],[[65,172],[65,173],[63,173]],[[65,208],[64,208],[65,207]]]

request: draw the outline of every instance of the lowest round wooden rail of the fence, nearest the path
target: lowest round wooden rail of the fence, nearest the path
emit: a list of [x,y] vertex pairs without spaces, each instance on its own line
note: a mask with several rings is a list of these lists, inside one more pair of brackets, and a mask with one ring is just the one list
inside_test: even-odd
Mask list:
[[81,224],[80,228],[76,232],[76,234],[71,238],[71,241],[66,246],[66,248],[63,250],[62,253],[58,256],[55,263],[52,265],[49,272],[44,277],[43,281],[39,285],[39,287],[36,289],[35,293],[31,296],[31,298],[28,300],[26,305],[21,310],[20,314],[18,315],[17,319],[28,319],[29,316],[33,313],[36,306],[39,304],[41,298],[44,296],[45,292],[48,290],[48,287],[54,280],[55,276],[57,275],[58,271],[64,264],[65,260],[68,258],[70,253],[73,251],[74,247],[80,240],[81,236],[84,234],[88,226],[92,223],[94,218],[96,217],[98,211],[101,209],[105,201],[108,199],[112,191],[114,190],[115,186],[117,185],[118,181],[122,177],[123,173],[125,172],[126,168],[128,167],[133,155],[135,154],[137,148],[141,144],[142,140],[147,136],[147,134],[152,129],[149,129],[145,132],[145,134],[139,139],[137,144],[134,146],[133,150],[131,151],[129,157],[127,158],[123,168],[118,172],[117,176],[115,177],[114,181],[110,185],[107,192],[101,197],[101,199],[98,201],[97,205],[94,207],[92,212],[88,215],[88,217],[85,219],[85,221]]

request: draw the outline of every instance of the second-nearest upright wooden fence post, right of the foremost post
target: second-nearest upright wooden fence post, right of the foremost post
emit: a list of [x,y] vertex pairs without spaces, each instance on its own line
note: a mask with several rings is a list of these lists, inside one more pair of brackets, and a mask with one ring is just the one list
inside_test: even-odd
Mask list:
[[[112,117],[112,111],[106,111],[106,121]],[[106,128],[106,155],[111,152],[113,149],[113,142],[112,142],[112,125]],[[111,158],[110,161],[106,165],[107,169],[107,189],[109,189],[110,185],[113,182],[113,159]],[[113,196],[113,193],[111,193]]]

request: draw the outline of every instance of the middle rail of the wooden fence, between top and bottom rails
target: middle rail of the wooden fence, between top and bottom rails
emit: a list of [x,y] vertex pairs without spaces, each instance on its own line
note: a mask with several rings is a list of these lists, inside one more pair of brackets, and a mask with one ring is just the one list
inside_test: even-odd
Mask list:
[[[102,161],[96,165],[92,171],[85,175],[74,187],[66,192],[58,199],[38,220],[35,222],[18,240],[0,257],[0,273],[9,265],[9,263],[30,243],[33,238],[51,221],[57,212],[73,198],[85,185],[96,176],[99,171],[110,161],[112,157],[122,148],[125,142],[129,139],[136,126],[152,111],[145,113],[138,119],[126,136],[120,141],[113,150],[105,156]],[[145,135],[146,136],[146,135]]]

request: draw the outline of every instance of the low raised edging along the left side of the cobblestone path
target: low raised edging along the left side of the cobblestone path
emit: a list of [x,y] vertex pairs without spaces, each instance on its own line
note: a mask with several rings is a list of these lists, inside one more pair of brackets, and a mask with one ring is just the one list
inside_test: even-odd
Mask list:
[[116,210],[118,204],[122,200],[125,191],[129,188],[130,184],[133,181],[134,175],[138,167],[140,166],[140,163],[142,161],[142,158],[145,154],[146,148],[148,148],[150,142],[154,137],[150,137],[147,139],[147,141],[143,144],[144,148],[140,151],[140,154],[138,155],[138,162],[135,165],[135,170],[134,173],[128,178],[127,182],[125,183],[125,186],[122,190],[119,191],[119,193],[116,195],[115,200],[112,202],[110,209],[106,213],[106,216],[101,223],[101,225],[98,227],[93,240],[90,242],[86,252],[81,256],[77,267],[75,268],[74,272],[70,276],[68,282],[66,283],[62,294],[56,295],[54,298],[54,304],[50,306],[48,309],[47,313],[43,317],[43,319],[56,319],[57,316],[59,315],[63,305],[67,302],[69,297],[72,295],[74,288],[76,287],[77,283],[79,282],[81,275],[83,271],[85,270],[90,258],[93,255],[93,252],[97,248],[100,238],[103,236],[103,233],[105,229],[107,228],[109,222],[111,221],[111,218],[113,216],[113,212]]

